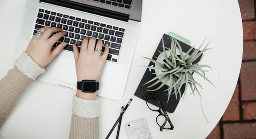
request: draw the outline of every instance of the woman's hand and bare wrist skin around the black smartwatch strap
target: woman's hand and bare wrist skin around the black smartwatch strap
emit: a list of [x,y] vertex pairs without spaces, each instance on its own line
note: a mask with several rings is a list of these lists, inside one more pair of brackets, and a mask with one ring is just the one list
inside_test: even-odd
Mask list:
[[[96,47],[96,38],[86,37],[84,38],[81,49],[76,44],[73,44],[74,57],[76,61],[76,76],[77,81],[82,80],[99,80],[102,73],[103,66],[108,57],[109,47],[108,44],[105,46],[105,50],[101,55],[95,49],[102,50],[102,40],[98,39]],[[76,91],[76,96],[82,99],[95,100],[96,93],[83,93],[81,90]]]

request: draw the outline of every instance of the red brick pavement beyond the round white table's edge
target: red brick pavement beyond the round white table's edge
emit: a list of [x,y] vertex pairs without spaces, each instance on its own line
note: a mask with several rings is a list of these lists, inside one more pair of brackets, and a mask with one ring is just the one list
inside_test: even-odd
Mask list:
[[207,139],[256,139],[256,0],[238,0],[243,20],[243,60],[236,90]]

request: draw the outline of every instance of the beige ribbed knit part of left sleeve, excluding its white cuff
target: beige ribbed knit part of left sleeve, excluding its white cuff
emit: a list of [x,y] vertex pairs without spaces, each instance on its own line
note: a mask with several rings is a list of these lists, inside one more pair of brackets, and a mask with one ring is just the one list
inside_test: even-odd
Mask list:
[[31,82],[16,66],[0,80],[0,127]]

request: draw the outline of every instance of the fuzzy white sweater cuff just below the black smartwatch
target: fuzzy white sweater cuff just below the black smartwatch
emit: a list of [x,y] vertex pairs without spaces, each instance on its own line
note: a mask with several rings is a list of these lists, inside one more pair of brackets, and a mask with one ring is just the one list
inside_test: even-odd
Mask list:
[[86,100],[73,96],[72,111],[75,115],[84,118],[95,118],[99,116],[99,102],[98,100]]

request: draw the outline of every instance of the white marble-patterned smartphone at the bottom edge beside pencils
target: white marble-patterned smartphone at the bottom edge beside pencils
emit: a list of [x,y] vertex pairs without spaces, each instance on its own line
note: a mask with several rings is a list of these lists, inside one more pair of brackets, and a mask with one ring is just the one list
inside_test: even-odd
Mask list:
[[145,119],[125,124],[129,139],[152,139]]

